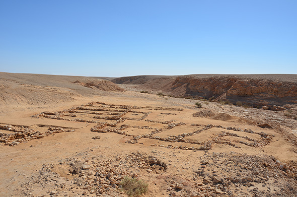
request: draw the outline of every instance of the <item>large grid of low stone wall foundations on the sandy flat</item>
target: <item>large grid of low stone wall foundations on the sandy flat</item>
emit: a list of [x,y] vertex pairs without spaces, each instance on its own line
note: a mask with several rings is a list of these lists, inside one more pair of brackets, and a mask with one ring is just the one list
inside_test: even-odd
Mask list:
[[[160,111],[160,112],[159,112]],[[128,105],[114,105],[106,104],[102,102],[90,102],[85,105],[73,107],[71,109],[65,109],[58,112],[42,112],[32,117],[44,117],[58,120],[67,121],[79,121],[97,123],[91,128],[91,132],[98,133],[116,133],[132,139],[127,140],[126,143],[137,144],[141,139],[152,139],[156,142],[170,142],[167,146],[162,144],[153,144],[150,146],[165,147],[168,149],[182,149],[182,150],[210,150],[215,144],[226,144],[235,148],[241,148],[239,145],[245,145],[249,147],[263,147],[268,145],[273,135],[266,133],[259,133],[251,129],[241,129],[237,127],[224,127],[221,125],[212,124],[187,124],[184,122],[176,122],[175,120],[162,121],[147,119],[151,113],[157,113],[162,115],[173,115],[176,113],[169,113],[166,111],[183,111],[181,108],[166,108],[166,107],[141,107],[141,106],[128,106]],[[95,115],[94,115],[95,114]],[[133,117],[136,116],[136,117]],[[72,119],[68,117],[73,117]],[[130,123],[125,123],[125,121]],[[131,123],[132,122],[132,123]],[[159,123],[164,125],[163,127],[152,127],[147,125],[148,123]],[[137,124],[137,125],[136,125]],[[165,134],[170,132],[173,128],[181,125],[196,127],[194,132],[184,133],[184,129],[180,130],[180,133],[176,135],[168,135],[167,137],[160,137],[158,134]],[[220,133],[213,135],[207,134],[207,131],[212,128],[219,128]],[[135,129],[138,132],[135,132]],[[141,132],[143,131],[143,132]],[[135,133],[138,133],[135,135]],[[140,133],[140,134],[139,134]],[[195,136],[198,134],[209,135],[208,140],[193,140],[187,139],[187,137]],[[253,134],[255,138],[245,134]],[[258,136],[256,138],[256,136]],[[183,143],[183,145],[179,145]],[[199,146],[197,146],[199,145]]]

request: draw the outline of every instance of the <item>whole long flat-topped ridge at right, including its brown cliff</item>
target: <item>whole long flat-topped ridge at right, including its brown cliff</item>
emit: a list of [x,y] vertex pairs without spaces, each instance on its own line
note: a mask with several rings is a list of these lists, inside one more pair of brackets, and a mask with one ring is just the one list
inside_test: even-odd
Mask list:
[[112,80],[174,96],[241,101],[254,107],[297,103],[297,75],[134,76]]

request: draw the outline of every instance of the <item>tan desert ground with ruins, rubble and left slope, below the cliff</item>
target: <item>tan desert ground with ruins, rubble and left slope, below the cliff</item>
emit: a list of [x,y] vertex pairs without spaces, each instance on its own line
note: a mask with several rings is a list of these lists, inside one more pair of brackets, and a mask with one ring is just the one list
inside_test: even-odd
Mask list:
[[0,196],[127,196],[125,176],[148,183],[143,196],[296,196],[295,104],[245,108],[105,80],[1,73]]

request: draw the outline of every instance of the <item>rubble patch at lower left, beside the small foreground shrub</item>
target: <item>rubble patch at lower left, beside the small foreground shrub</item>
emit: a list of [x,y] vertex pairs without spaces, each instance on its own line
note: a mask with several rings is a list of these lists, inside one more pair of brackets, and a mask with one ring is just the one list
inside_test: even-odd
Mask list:
[[[30,196],[34,193],[33,188],[41,187],[44,194],[50,196],[124,196],[119,183],[125,176],[141,178],[148,174],[162,174],[166,169],[166,163],[140,152],[91,158],[79,154],[60,160],[58,164],[43,165],[38,173],[30,177],[31,181],[22,185],[22,192]],[[64,177],[59,173],[64,174]]]

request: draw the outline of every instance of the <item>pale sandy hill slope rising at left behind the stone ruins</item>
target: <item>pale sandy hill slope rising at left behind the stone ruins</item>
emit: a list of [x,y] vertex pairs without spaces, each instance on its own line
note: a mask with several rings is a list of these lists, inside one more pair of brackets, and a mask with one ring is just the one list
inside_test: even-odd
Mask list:
[[123,91],[108,78],[0,73],[0,105],[8,103],[52,104],[74,96]]

